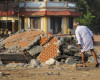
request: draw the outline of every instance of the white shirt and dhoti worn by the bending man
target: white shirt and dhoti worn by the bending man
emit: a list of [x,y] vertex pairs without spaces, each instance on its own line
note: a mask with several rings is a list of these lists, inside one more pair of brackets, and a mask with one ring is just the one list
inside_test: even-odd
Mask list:
[[78,26],[75,33],[78,44],[81,44],[82,47],[81,52],[85,52],[94,48],[92,40],[93,33],[86,26]]

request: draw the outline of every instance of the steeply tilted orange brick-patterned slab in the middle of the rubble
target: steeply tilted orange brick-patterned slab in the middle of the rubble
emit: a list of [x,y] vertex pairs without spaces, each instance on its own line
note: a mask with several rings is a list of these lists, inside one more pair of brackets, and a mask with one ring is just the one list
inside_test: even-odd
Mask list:
[[57,44],[58,40],[56,37],[51,39],[49,43],[44,47],[40,55],[38,56],[38,60],[42,63],[46,62],[50,58],[55,58],[60,54],[59,44]]

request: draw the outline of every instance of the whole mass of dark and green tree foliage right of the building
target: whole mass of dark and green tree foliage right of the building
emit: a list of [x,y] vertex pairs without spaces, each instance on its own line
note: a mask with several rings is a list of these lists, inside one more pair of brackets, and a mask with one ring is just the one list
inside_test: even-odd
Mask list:
[[82,14],[77,18],[80,24],[88,26],[100,34],[100,0],[67,0],[77,2],[78,11]]

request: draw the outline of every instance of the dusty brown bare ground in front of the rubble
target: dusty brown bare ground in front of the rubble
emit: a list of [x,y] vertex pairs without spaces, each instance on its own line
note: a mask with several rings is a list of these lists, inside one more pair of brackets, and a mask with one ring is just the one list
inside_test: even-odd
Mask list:
[[[98,41],[98,37],[95,37],[95,41]],[[95,45],[95,50],[100,53],[99,44]],[[100,80],[100,67],[94,66],[94,63],[87,63],[86,68],[81,68],[80,64],[77,67],[61,65],[39,69],[0,67],[0,72],[4,73],[0,80]]]

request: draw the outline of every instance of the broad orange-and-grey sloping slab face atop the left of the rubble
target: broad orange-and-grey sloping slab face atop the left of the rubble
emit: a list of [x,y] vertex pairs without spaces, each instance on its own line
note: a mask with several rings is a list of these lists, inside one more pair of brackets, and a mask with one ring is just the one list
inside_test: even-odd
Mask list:
[[40,39],[40,35],[42,34],[44,33],[38,30],[25,31],[8,37],[3,41],[3,44],[5,44],[6,48],[9,48],[13,45],[17,45],[20,48],[26,48],[27,46],[31,47],[33,43],[38,41],[38,38]]

